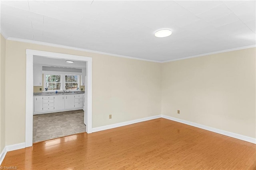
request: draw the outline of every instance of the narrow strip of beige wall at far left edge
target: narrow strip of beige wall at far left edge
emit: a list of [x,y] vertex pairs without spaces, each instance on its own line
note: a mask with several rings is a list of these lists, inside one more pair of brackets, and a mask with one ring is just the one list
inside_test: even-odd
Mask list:
[[6,40],[0,34],[0,152],[5,147],[5,49]]

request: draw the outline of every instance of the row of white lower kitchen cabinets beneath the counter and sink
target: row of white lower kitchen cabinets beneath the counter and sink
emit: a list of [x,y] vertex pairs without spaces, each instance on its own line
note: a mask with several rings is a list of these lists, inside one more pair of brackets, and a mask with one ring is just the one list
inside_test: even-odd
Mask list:
[[83,94],[34,96],[34,113],[83,108]]

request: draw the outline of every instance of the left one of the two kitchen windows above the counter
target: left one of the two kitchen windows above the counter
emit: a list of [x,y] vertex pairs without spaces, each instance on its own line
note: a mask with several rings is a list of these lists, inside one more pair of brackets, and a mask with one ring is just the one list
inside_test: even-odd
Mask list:
[[60,90],[60,77],[60,75],[46,74],[45,88],[48,88],[48,90]]

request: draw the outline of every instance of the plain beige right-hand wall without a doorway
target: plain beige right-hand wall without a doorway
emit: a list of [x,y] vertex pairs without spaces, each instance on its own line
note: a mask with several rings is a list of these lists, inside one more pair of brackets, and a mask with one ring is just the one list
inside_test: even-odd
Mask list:
[[162,114],[256,138],[255,56],[250,48],[163,63]]

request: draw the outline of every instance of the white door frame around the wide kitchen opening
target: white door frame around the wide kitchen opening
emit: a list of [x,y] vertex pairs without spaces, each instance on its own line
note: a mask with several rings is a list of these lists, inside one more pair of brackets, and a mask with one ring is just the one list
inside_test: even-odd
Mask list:
[[86,111],[87,111],[87,125],[86,132],[92,133],[92,58],[79,55],[70,55],[63,53],[53,53],[48,51],[38,51],[33,49],[26,49],[26,133],[25,133],[25,147],[33,144],[33,56],[42,56],[55,59],[67,59],[72,61],[87,61],[86,62],[86,77],[87,85],[86,91]]

